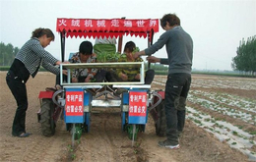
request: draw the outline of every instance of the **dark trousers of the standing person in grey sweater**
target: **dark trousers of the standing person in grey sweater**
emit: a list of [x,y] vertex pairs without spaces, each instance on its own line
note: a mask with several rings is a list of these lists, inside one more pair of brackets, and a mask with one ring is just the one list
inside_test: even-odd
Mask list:
[[183,131],[186,115],[186,98],[191,75],[169,74],[165,84],[166,136],[169,143],[178,144],[178,134]]

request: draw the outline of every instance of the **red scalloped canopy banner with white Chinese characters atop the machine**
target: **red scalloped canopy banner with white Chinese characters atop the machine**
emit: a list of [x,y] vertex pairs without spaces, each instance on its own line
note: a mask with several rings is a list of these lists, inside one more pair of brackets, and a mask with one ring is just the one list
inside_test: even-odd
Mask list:
[[57,19],[56,30],[67,32],[66,36],[98,36],[100,32],[109,36],[120,36],[120,33],[146,36],[151,30],[159,31],[158,19],[126,20],[126,19]]

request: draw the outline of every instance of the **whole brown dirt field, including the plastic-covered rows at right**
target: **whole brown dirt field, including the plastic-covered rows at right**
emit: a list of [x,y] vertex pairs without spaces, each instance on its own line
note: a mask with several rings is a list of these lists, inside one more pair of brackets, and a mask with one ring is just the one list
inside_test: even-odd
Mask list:
[[[127,133],[121,131],[121,117],[119,110],[107,109],[92,114],[91,132],[83,134],[79,143],[71,147],[71,135],[65,130],[62,120],[57,123],[56,134],[51,137],[41,135],[40,124],[37,123],[36,112],[39,109],[37,98],[39,91],[47,86],[54,85],[55,77],[49,73],[39,73],[35,79],[30,79],[27,83],[29,94],[29,109],[27,111],[27,131],[32,133],[30,137],[19,138],[11,135],[11,127],[16,111],[16,101],[9,90],[5,81],[6,72],[0,72],[0,161],[23,161],[23,162],[55,162],[55,161],[98,161],[98,162],[120,162],[120,161],[149,161],[149,162],[233,162],[249,161],[248,154],[242,153],[235,146],[228,144],[227,138],[213,134],[216,129],[207,131],[207,125],[195,117],[208,114],[211,117],[223,119],[233,126],[241,126],[241,131],[249,132],[250,148],[246,148],[253,155],[255,151],[255,114],[256,112],[243,107],[249,104],[251,109],[256,109],[256,81],[255,79],[225,78],[214,76],[192,76],[191,96],[189,96],[187,120],[184,133],[180,137],[180,149],[170,150],[160,148],[158,141],[164,139],[155,134],[154,121],[149,116],[146,132],[138,135],[135,146]],[[156,77],[153,89],[164,87],[163,77]],[[161,82],[161,83],[160,83]],[[245,86],[247,85],[247,86]],[[208,95],[209,94],[209,95]],[[238,99],[248,101],[245,106],[237,102],[233,105],[221,102],[217,95],[212,97],[210,94],[231,95],[230,98],[238,96]],[[227,97],[229,97],[226,96]],[[245,119],[235,118],[228,113],[224,114],[219,110],[207,109],[206,105],[201,104],[197,98],[208,100],[211,103],[219,103],[226,108],[236,111],[250,113]],[[224,98],[224,97],[223,97]],[[211,106],[210,106],[211,108]],[[191,109],[191,110],[190,110]],[[192,111],[193,109],[193,111]],[[224,108],[223,108],[224,110]],[[194,115],[195,111],[204,114]],[[200,119],[200,118],[199,118]],[[202,127],[203,126],[203,127]],[[228,129],[227,129],[228,130]],[[231,130],[231,129],[229,129]],[[232,132],[234,135],[234,131]],[[236,131],[236,135],[239,134]],[[226,134],[227,135],[227,134]],[[238,136],[238,135],[237,135]],[[229,137],[231,138],[231,137]],[[238,143],[232,142],[232,145]],[[245,149],[245,148],[243,148]],[[253,157],[250,157],[251,160]]]

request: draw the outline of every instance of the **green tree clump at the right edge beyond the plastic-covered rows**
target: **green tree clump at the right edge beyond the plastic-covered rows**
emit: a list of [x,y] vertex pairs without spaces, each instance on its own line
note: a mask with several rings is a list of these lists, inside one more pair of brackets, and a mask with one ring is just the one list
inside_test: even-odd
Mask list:
[[240,41],[236,50],[236,56],[232,58],[231,67],[233,70],[256,72],[256,35],[251,36],[245,42]]

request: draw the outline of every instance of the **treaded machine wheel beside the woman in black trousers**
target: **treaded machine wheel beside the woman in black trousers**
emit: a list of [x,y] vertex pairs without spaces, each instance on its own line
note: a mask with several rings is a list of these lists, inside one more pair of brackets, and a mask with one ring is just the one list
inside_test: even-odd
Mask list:
[[55,134],[55,123],[53,120],[54,105],[51,99],[42,99],[40,124],[41,132],[44,136],[52,136]]

